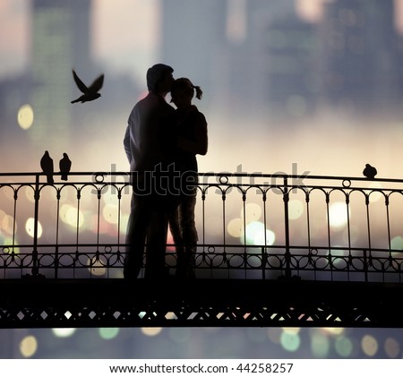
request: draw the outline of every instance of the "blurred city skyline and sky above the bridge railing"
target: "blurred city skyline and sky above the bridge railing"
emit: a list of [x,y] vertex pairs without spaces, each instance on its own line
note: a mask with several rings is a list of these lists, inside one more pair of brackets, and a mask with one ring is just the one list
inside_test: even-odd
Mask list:
[[[126,170],[127,116],[145,92],[147,68],[163,61],[204,90],[194,102],[210,124],[203,171],[291,173],[296,163],[312,174],[360,176],[370,162],[380,176],[399,177],[402,0],[57,4],[2,3],[3,170],[36,171],[44,147],[70,150],[80,171]],[[46,18],[46,9],[70,18]],[[40,31],[57,22],[54,34]],[[77,62],[84,81],[106,74],[101,99],[70,104]],[[23,165],[12,159],[22,150],[32,156]]]

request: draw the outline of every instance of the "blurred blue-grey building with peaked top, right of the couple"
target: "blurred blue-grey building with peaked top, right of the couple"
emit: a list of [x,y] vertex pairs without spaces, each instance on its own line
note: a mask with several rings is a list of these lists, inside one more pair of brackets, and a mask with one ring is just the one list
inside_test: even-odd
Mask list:
[[312,115],[319,95],[316,25],[290,12],[267,21],[262,54],[266,56],[264,99],[272,116]]

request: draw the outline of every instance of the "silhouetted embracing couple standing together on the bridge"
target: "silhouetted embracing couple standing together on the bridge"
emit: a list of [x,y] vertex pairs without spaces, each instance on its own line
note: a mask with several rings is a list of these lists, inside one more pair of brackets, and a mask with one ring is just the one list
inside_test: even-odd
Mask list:
[[[168,228],[176,244],[176,277],[194,278],[198,241],[194,221],[198,167],[196,155],[208,149],[207,122],[193,105],[202,91],[173,68],[155,64],[147,71],[149,93],[129,116],[124,150],[130,163],[132,203],[126,233],[124,278],[168,277]],[[167,103],[167,93],[171,102]]]

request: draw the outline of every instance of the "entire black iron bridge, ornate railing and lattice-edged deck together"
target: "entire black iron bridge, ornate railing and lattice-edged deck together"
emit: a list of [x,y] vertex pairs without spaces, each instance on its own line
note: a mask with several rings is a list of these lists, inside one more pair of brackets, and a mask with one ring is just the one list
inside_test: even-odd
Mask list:
[[0,175],[0,327],[401,327],[403,181],[201,174],[196,279],[123,279],[125,173]]

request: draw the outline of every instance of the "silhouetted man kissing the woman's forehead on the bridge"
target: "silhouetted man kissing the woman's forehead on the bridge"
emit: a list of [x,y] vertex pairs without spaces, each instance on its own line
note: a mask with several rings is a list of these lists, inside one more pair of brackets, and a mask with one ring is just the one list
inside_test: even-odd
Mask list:
[[174,81],[174,70],[155,64],[147,71],[148,95],[133,107],[124,135],[130,162],[133,196],[126,235],[124,278],[137,278],[146,244],[144,278],[164,278],[167,244],[167,195],[156,173],[167,160],[167,118],[175,110],[165,97]]

